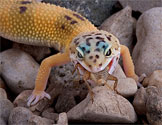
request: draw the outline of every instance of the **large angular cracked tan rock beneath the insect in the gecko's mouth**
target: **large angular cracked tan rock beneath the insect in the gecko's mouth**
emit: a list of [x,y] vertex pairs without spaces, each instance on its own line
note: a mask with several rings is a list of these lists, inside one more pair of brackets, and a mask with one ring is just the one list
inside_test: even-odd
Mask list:
[[88,94],[87,98],[72,108],[68,113],[70,121],[86,121],[99,123],[134,123],[137,116],[133,106],[120,95],[109,91],[106,87],[93,89],[94,102]]

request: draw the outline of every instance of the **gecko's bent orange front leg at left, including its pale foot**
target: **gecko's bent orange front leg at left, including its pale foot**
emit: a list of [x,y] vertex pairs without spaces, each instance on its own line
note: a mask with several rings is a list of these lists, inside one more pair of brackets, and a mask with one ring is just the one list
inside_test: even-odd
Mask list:
[[28,98],[28,106],[36,104],[44,97],[50,99],[50,95],[47,94],[44,90],[46,88],[51,67],[66,64],[68,62],[70,62],[68,51],[62,54],[58,53],[56,55],[50,56],[42,61],[36,78],[35,88],[32,92],[32,95]]

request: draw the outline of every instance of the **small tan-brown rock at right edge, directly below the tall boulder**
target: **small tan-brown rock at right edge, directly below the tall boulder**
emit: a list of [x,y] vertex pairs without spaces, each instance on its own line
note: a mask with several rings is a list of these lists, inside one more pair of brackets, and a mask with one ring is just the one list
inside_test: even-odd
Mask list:
[[162,88],[162,70],[154,71],[149,77],[143,81],[143,86],[156,86]]

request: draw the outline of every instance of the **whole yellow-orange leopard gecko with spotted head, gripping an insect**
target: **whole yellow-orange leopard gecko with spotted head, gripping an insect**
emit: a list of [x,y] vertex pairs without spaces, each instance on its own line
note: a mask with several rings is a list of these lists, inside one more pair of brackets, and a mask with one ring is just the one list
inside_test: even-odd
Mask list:
[[44,97],[50,99],[44,90],[51,67],[70,61],[81,66],[80,72],[96,75],[107,69],[111,74],[121,55],[126,75],[137,80],[128,48],[80,14],[35,0],[0,0],[0,5],[0,36],[60,51],[42,61],[28,106]]

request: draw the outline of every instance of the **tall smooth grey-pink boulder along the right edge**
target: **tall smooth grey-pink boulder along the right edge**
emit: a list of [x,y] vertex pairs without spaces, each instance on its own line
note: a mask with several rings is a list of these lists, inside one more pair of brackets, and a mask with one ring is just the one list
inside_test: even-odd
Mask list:
[[144,12],[137,22],[137,44],[133,50],[136,73],[150,75],[162,69],[162,7]]

